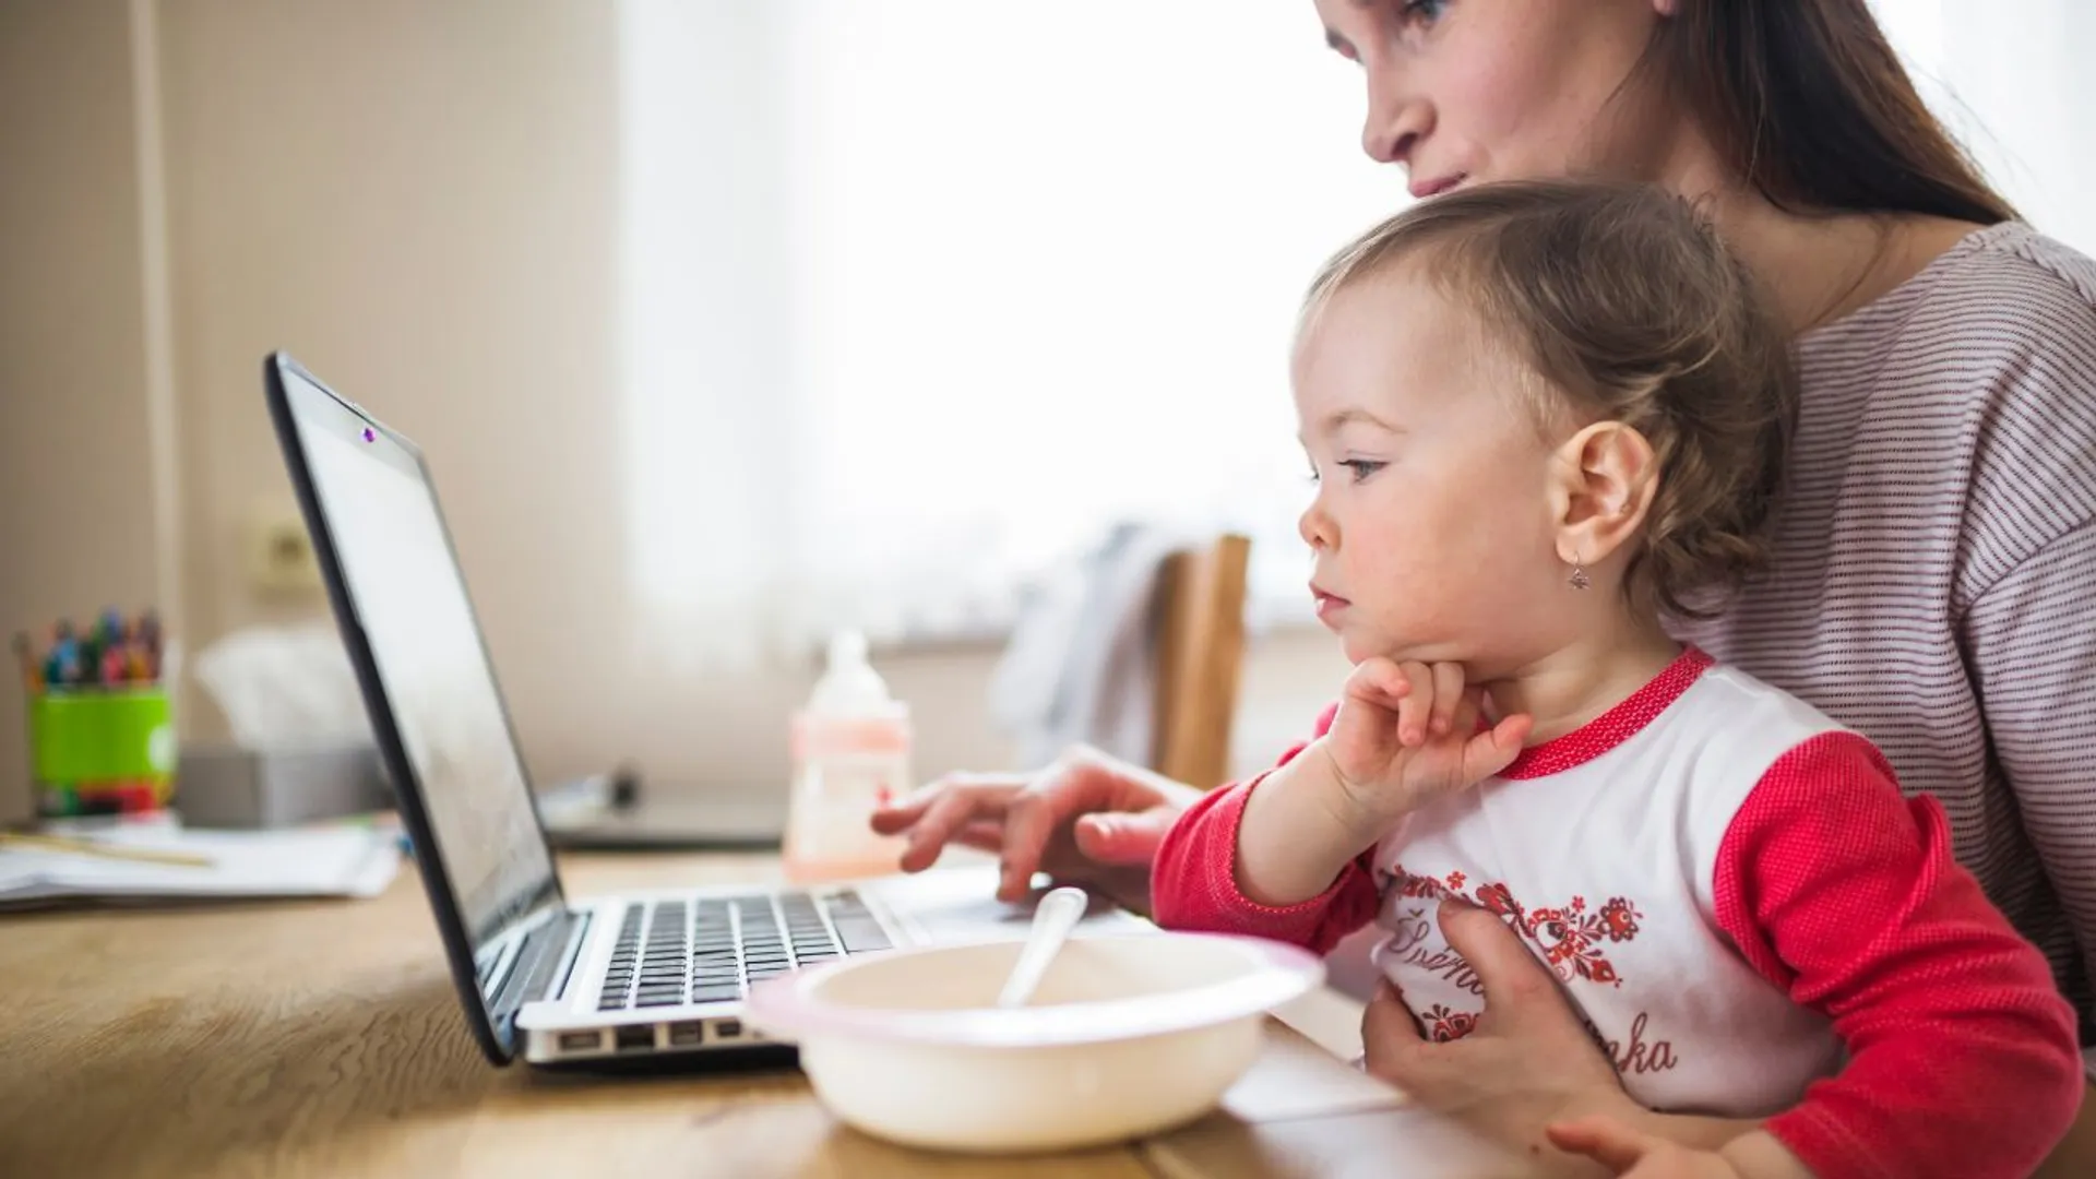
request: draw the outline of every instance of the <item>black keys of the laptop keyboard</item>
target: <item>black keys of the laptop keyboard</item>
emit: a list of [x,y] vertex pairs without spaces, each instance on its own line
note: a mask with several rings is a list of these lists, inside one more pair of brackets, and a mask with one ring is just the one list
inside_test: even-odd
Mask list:
[[723,1003],[771,976],[887,948],[849,889],[633,902],[618,919],[597,1011]]

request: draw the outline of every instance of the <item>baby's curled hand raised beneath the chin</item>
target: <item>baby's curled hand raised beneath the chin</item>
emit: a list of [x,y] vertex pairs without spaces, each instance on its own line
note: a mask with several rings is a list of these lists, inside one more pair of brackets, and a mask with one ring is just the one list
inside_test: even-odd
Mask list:
[[1480,732],[1484,690],[1461,663],[1367,659],[1346,680],[1339,715],[1318,747],[1331,757],[1352,818],[1381,837],[1423,803],[1469,789],[1522,751],[1530,717]]

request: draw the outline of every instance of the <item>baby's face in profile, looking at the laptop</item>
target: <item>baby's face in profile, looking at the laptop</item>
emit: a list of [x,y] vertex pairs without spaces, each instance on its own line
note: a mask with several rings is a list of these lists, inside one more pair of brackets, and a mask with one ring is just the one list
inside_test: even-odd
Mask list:
[[1318,617],[1362,661],[1511,673],[1562,640],[1555,462],[1524,369],[1404,266],[1333,296],[1295,346],[1316,474],[1302,535]]

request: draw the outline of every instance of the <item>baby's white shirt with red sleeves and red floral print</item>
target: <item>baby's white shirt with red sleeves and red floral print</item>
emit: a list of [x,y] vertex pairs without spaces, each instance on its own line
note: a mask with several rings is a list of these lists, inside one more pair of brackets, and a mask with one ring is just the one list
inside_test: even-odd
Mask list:
[[1429,1036],[1484,1009],[1436,921],[1453,896],[1522,934],[1633,1097],[1773,1114],[1819,1179],[2027,1175],[2081,1103],[2073,1009],[1951,858],[1941,806],[1903,799],[1861,736],[1696,650],[1295,906],[1237,887],[1253,789],[1174,827],[1157,921],[1318,952],[1377,921],[1377,963]]

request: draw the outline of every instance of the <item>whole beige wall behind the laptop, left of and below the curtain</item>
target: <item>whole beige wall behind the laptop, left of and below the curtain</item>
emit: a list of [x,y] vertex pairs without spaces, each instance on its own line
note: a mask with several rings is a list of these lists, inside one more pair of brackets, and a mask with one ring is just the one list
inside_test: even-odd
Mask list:
[[[149,50],[136,63],[134,34]],[[316,615],[241,573],[249,520],[291,510],[260,390],[262,357],[287,348],[425,449],[541,780],[631,757],[667,791],[782,787],[786,713],[811,669],[671,669],[616,610],[629,545],[677,543],[627,535],[618,499],[616,6],[10,2],[0,55],[0,157],[40,176],[10,180],[0,206],[0,520],[29,554],[0,573],[0,621],[178,602],[197,648]],[[136,162],[153,120],[163,201]],[[172,306],[163,438],[145,413],[140,310],[155,214]],[[124,457],[75,478],[99,453]],[[155,462],[176,487],[155,487]],[[57,501],[59,485],[80,495]],[[155,508],[172,512],[157,529]],[[96,520],[92,541],[69,539]],[[885,661],[926,776],[1006,764],[985,705],[994,659]],[[1256,640],[1241,764],[1297,736],[1337,669],[1323,636]],[[187,703],[189,741],[222,730]],[[19,728],[0,732],[19,793]]]

